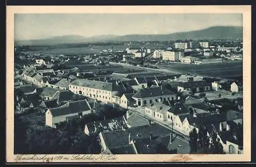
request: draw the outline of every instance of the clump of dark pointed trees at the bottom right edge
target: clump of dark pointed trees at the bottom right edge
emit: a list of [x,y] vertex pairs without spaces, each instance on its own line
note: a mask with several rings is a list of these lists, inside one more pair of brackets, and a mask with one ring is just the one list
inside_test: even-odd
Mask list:
[[199,132],[194,128],[189,133],[190,152],[204,154],[224,154],[223,146],[220,143],[217,134],[214,133],[210,137],[207,135],[207,129],[204,126],[199,128]]

